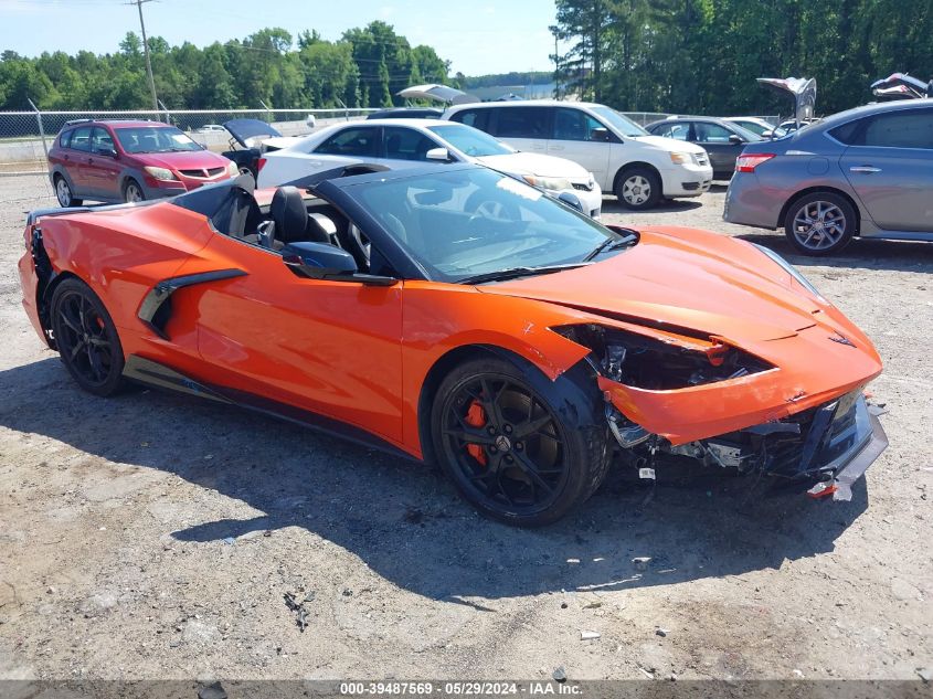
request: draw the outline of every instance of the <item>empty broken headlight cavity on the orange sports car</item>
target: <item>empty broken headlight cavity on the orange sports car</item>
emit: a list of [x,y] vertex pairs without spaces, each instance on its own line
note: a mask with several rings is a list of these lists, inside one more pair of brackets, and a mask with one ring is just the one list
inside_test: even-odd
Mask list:
[[600,325],[552,328],[591,350],[587,361],[617,383],[651,391],[686,389],[739,379],[772,364],[714,338],[669,341]]

